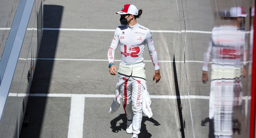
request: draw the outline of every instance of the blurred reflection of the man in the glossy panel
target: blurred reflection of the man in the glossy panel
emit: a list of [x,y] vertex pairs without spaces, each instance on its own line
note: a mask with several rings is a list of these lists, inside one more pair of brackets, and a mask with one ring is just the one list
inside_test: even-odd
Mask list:
[[245,46],[245,31],[241,24],[244,24],[246,14],[241,7],[232,7],[230,11],[220,12],[220,17],[221,21],[226,20],[225,25],[212,30],[209,48],[204,53],[202,81],[208,81],[211,58],[209,119],[213,119],[215,137],[228,138],[233,134],[234,91],[240,84],[240,58]]

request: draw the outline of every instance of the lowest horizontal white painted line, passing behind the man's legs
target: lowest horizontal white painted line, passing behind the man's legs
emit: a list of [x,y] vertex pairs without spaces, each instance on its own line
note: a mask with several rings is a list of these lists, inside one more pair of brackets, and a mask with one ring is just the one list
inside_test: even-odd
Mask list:
[[[17,96],[17,93],[9,93],[9,96]],[[26,93],[19,93],[18,97],[25,97]],[[116,95],[103,95],[103,94],[67,94],[67,93],[29,93],[30,97],[73,97],[79,96],[83,98],[115,98]],[[190,95],[190,96],[177,96],[173,95],[150,95],[152,99],[210,99],[210,96]],[[243,99],[251,99],[250,96],[243,96]]]

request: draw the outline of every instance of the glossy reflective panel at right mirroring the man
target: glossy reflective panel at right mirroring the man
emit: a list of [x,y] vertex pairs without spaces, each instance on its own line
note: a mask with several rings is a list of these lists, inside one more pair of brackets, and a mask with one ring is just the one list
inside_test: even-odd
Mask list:
[[249,137],[254,1],[183,2],[185,137]]

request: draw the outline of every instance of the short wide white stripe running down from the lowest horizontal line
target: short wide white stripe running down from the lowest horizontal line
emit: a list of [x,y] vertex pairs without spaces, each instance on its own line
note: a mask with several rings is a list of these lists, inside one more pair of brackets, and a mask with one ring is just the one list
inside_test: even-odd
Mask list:
[[84,97],[72,94],[67,138],[83,138]]

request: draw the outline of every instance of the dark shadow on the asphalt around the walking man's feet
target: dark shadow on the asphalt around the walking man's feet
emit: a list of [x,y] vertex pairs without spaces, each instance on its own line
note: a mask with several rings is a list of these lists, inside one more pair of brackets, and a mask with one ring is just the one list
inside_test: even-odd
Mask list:
[[[119,126],[117,126],[117,122],[119,120],[122,120],[122,123],[119,123]],[[147,131],[146,124],[145,124],[146,121],[150,121],[150,122],[154,123],[154,126],[161,125],[155,119],[143,116],[142,117],[142,121],[141,121],[141,128],[140,128],[139,138],[150,138],[152,136]],[[115,119],[111,120],[110,124],[111,124],[110,128],[112,128],[112,132],[117,133],[118,131],[126,130],[126,124],[127,124],[126,115],[125,114],[120,114],[118,117],[116,117]]]

